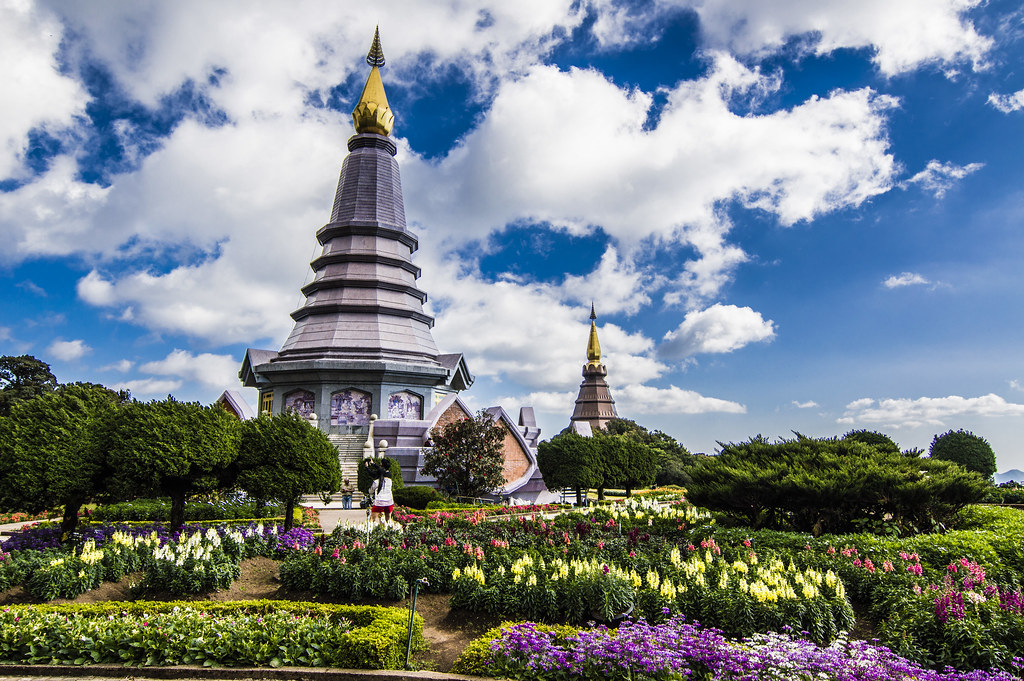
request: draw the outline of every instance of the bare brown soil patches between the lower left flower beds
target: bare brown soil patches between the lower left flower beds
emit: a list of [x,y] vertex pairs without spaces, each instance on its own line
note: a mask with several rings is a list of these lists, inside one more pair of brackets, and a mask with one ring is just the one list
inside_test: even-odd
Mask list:
[[[279,561],[270,558],[244,560],[242,574],[229,589],[195,596],[187,600],[227,601],[266,598],[335,602],[318,598],[315,594],[307,592],[288,591],[278,579],[279,565]],[[131,585],[137,583],[139,579],[137,574],[129,574],[120,582],[104,582],[98,589],[86,592],[72,601],[54,600],[50,602],[93,603],[131,600]],[[146,598],[161,600],[159,595],[151,595]],[[172,598],[168,596],[164,599],[170,600]],[[34,601],[22,587],[0,591],[0,605],[32,602]],[[409,600],[399,602],[368,600],[360,603],[409,607]],[[442,594],[420,594],[416,601],[416,611],[423,618],[423,637],[426,639],[428,647],[425,650],[414,652],[414,669],[447,672],[470,641],[492,627],[501,624],[478,612],[452,610],[449,607],[449,597]]]

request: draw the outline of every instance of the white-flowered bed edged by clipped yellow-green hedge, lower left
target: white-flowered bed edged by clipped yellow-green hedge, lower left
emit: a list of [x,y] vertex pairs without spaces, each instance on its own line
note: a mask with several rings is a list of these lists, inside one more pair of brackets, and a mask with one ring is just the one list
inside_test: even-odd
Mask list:
[[289,601],[10,606],[0,663],[398,669],[408,628],[404,609]]

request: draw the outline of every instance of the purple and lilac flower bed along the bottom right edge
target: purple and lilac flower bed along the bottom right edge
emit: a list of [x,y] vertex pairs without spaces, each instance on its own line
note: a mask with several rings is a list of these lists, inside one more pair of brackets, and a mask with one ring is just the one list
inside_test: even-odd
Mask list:
[[[1017,669],[1024,659],[1017,658]],[[842,679],[844,681],[1011,681],[1006,672],[935,672],[864,641],[838,639],[820,647],[788,634],[739,643],[722,632],[673,618],[658,625],[624,623],[572,629],[532,623],[505,625],[471,644],[456,661],[459,674],[554,681],[591,679]]]

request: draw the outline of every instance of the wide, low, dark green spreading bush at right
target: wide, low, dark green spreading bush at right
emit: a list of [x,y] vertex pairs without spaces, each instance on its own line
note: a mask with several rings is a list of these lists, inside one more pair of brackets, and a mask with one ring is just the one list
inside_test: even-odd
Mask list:
[[855,439],[756,437],[691,470],[690,501],[757,528],[910,535],[946,529],[988,485],[915,453]]

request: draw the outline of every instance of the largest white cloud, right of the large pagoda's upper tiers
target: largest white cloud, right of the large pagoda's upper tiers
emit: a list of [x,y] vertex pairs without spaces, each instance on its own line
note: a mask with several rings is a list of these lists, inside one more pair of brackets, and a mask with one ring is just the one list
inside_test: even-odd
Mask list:
[[682,265],[670,302],[692,305],[746,259],[726,243],[723,203],[788,225],[891,187],[884,128],[895,99],[835,91],[742,116],[732,103],[758,98],[777,80],[725,54],[711,58],[707,76],[668,91],[652,130],[643,129],[651,95],[594,71],[538,66],[503,83],[480,124],[440,161],[402,150],[411,218],[446,243],[549,222],[573,233],[600,225],[632,259],[644,240],[690,246],[698,258]]

